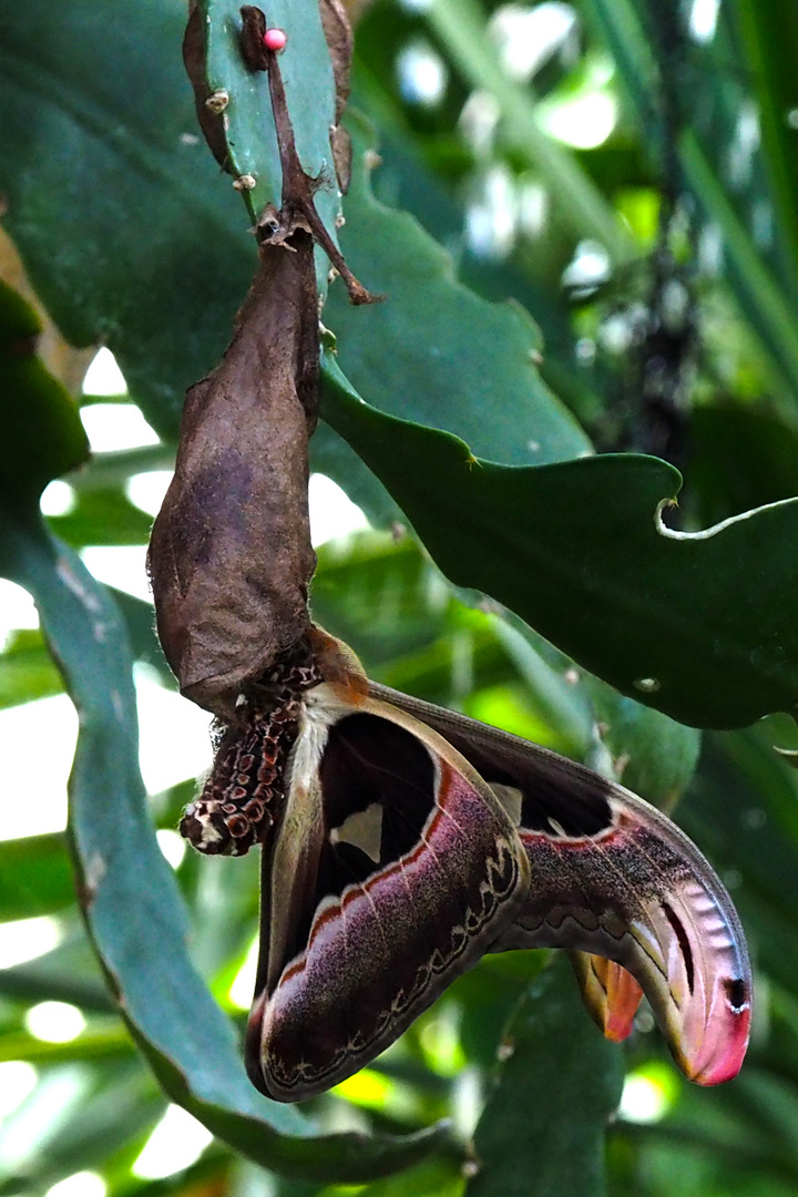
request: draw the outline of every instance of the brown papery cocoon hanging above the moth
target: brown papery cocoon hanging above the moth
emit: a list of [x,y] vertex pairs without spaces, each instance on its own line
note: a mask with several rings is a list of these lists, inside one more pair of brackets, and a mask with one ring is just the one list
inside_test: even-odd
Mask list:
[[217,369],[185,399],[152,530],[158,634],[187,698],[230,718],[242,686],[307,631],[316,555],[307,438],[318,408],[310,232],[263,242]]

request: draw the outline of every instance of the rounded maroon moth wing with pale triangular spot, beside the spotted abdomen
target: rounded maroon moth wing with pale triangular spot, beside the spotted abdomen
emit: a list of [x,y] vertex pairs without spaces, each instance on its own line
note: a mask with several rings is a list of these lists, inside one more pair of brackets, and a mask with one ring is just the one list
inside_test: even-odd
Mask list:
[[310,691],[290,771],[248,1068],[297,1101],[368,1063],[476,962],[522,909],[529,864],[473,766],[388,704]]

